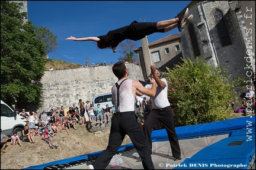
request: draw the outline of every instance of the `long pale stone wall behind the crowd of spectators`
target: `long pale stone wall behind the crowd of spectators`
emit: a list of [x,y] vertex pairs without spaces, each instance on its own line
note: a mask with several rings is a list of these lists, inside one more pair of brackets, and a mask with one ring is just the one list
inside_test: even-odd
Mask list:
[[[139,80],[145,85],[140,66],[126,64],[126,67],[130,79]],[[92,102],[95,95],[111,93],[111,87],[116,81],[112,66],[45,71],[41,79],[44,89],[43,106],[39,108],[39,113],[55,109],[57,106],[68,108],[72,103],[79,107],[79,99]]]

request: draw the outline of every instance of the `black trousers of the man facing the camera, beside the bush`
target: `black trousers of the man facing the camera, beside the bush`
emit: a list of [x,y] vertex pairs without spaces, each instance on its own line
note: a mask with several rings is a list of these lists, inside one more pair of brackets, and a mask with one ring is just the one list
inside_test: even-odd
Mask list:
[[144,123],[144,133],[146,140],[148,140],[149,146],[152,151],[152,140],[151,133],[155,125],[161,121],[164,124],[165,129],[167,130],[167,135],[169,143],[171,145],[172,156],[175,158],[180,158],[181,151],[180,145],[178,143],[178,136],[175,131],[174,120],[172,116],[171,106],[165,107],[163,109],[152,109]]

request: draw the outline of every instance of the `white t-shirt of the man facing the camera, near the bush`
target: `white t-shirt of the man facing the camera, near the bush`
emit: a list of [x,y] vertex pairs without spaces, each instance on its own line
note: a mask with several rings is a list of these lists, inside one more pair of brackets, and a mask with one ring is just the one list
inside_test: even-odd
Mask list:
[[[165,82],[165,87],[164,89],[161,89],[160,87],[158,87],[156,85],[156,94],[154,97],[151,97],[152,99],[152,109],[160,109],[160,108],[164,108],[167,106],[170,106],[169,104],[169,100],[167,97],[167,90],[168,90],[168,84],[167,84],[167,80],[165,78],[160,79],[161,81]],[[151,89],[152,84],[146,84],[145,86],[147,89]]]

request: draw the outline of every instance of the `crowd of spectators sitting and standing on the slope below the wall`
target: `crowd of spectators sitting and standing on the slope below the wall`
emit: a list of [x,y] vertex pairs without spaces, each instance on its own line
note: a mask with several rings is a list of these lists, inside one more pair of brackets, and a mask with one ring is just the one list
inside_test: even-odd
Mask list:
[[[20,137],[17,136],[17,132],[14,132],[11,138],[8,138],[8,136],[1,133],[1,152],[6,152],[5,146],[8,139],[11,139],[11,145],[15,148],[15,145],[17,144],[23,146],[21,142],[35,143],[34,138],[38,138],[37,136],[40,136],[41,139],[49,145],[50,149],[57,149],[58,146],[55,145],[51,139],[53,136],[58,135],[58,133],[62,133],[63,131],[69,135],[72,132],[72,129],[76,130],[76,126],[85,126],[86,122],[88,122],[88,125],[95,125],[95,122],[98,122],[97,112],[95,112],[96,114],[94,113],[92,104],[88,100],[86,104],[82,102],[82,100],[79,100],[79,103],[79,108],[73,103],[66,113],[63,106],[57,106],[56,109],[50,109],[49,117],[46,112],[43,111],[40,119],[37,117],[36,112],[26,113],[25,109],[22,109],[22,112],[19,113],[19,109],[16,109],[15,111],[17,114],[20,114],[25,118],[27,125],[25,125],[24,129],[21,131]],[[81,108],[81,106],[83,108]],[[101,123],[111,121],[110,115],[114,113],[114,109],[112,107],[107,107],[108,109],[104,110],[100,106],[98,106],[98,108],[101,110],[101,113],[99,114],[101,115]],[[84,112],[81,112],[82,110],[84,110]],[[88,116],[85,116],[85,114]],[[91,126],[91,128],[93,128],[93,126]]]

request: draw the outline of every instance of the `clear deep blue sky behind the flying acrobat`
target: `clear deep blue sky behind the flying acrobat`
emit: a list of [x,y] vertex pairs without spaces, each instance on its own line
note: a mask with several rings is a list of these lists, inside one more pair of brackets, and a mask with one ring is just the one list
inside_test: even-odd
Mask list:
[[[98,37],[130,22],[158,22],[172,19],[191,1],[27,1],[28,20],[37,27],[46,27],[57,35],[56,53],[49,53],[50,59],[82,64],[88,57],[89,65],[111,61],[116,63],[119,53],[111,49],[98,49],[92,41],[67,41],[76,38]],[[153,42],[171,34],[178,34],[178,28],[165,33],[148,36]],[[125,41],[123,41],[125,42]],[[140,40],[134,41],[141,47]],[[119,50],[119,47],[117,47]]]

